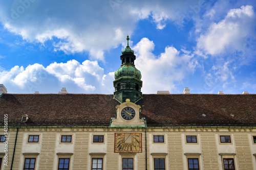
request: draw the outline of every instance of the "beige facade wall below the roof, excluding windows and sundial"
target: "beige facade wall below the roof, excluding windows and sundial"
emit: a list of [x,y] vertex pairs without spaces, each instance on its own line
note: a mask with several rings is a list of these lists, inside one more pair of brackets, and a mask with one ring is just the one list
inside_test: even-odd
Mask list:
[[[23,169],[25,158],[36,158],[35,169],[55,170],[59,158],[70,159],[69,169],[92,169],[92,158],[102,158],[102,169],[121,169],[122,158],[133,158],[135,170],[154,169],[155,158],[164,158],[165,169],[188,169],[188,158],[198,158],[199,168],[206,170],[224,169],[223,159],[233,158],[236,169],[256,170],[256,128],[30,127],[16,132],[9,128],[8,166],[5,143],[0,143],[1,169],[11,164]],[[141,134],[141,152],[114,152],[117,133]],[[29,135],[38,135],[38,142],[28,142]],[[71,135],[71,142],[61,142],[61,135]],[[103,136],[103,142],[93,142],[94,135]],[[163,142],[154,142],[154,135],[163,136]],[[196,136],[197,142],[187,142],[187,136]],[[230,136],[230,142],[221,142],[220,136]]]

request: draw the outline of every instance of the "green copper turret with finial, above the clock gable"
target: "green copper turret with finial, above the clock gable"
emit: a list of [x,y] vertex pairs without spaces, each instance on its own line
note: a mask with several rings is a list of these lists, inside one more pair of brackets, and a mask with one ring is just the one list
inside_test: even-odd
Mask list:
[[121,67],[115,71],[115,81],[113,82],[114,98],[120,103],[125,102],[126,99],[136,103],[142,98],[140,91],[142,87],[141,73],[134,65],[136,56],[129,46],[129,39],[129,35],[127,35],[127,45],[120,56]]

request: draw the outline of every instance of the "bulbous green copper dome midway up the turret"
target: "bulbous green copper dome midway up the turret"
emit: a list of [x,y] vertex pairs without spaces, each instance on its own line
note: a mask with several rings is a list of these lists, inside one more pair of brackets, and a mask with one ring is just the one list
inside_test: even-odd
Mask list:
[[115,71],[115,80],[123,76],[131,76],[137,79],[141,79],[140,70],[138,70],[133,64],[123,64]]

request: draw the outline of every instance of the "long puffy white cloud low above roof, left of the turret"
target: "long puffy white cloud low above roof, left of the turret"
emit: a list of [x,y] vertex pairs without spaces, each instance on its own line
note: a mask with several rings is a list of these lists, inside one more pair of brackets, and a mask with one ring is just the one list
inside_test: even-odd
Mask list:
[[54,62],[46,68],[36,63],[0,72],[0,82],[15,89],[13,93],[58,93],[62,87],[70,93],[113,93],[112,83],[109,84],[113,80],[112,73],[104,75],[98,62],[89,60],[82,64],[76,60]]

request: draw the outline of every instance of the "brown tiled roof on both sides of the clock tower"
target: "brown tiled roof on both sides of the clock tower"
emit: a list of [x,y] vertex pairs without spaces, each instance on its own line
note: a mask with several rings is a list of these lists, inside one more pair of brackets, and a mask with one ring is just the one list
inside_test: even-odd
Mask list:
[[[4,94],[0,126],[4,114],[9,126],[109,126],[118,104],[112,94]],[[143,94],[136,104],[148,127],[256,127],[256,94]]]

